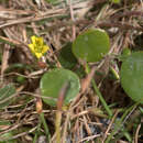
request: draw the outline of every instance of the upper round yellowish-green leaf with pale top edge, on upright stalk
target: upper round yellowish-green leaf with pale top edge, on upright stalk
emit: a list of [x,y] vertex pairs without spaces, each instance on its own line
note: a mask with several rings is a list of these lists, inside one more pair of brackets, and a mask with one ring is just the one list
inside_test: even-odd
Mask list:
[[99,62],[110,48],[108,34],[100,29],[90,29],[78,35],[73,43],[73,53],[86,62]]

